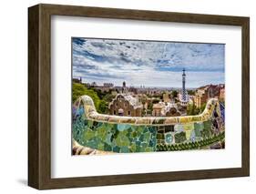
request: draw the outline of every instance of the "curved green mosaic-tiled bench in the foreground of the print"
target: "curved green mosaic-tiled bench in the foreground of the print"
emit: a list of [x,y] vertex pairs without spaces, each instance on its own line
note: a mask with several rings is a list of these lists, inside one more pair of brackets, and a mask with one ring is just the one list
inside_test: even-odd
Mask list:
[[82,96],[72,110],[73,154],[223,148],[224,109],[211,98],[197,116],[110,116],[97,113],[91,97]]

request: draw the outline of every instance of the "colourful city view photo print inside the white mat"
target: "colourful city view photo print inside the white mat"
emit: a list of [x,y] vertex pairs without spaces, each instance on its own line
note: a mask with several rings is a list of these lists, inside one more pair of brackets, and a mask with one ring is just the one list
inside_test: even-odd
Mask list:
[[72,154],[225,148],[224,45],[72,38]]

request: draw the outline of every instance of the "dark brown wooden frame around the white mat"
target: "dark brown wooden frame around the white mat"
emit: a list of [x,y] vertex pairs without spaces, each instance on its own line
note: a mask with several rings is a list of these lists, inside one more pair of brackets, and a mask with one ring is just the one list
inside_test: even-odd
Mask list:
[[[145,21],[241,26],[242,129],[241,168],[51,178],[51,15],[85,16]],[[59,189],[216,179],[250,175],[250,18],[99,8],[71,5],[35,5],[28,8],[28,185]]]

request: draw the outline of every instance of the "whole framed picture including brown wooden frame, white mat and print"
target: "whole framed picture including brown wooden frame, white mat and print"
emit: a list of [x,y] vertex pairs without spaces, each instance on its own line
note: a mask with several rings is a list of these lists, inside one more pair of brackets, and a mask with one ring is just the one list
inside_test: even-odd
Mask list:
[[249,17],[28,8],[28,185],[250,174]]

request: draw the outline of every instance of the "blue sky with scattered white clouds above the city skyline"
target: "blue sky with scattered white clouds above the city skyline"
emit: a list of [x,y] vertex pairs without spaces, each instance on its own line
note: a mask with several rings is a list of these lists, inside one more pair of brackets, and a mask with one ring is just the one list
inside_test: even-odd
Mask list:
[[72,38],[73,77],[121,86],[186,87],[224,83],[225,46],[157,41]]

